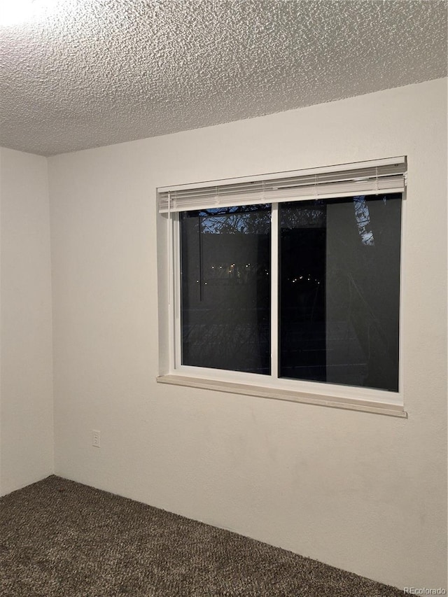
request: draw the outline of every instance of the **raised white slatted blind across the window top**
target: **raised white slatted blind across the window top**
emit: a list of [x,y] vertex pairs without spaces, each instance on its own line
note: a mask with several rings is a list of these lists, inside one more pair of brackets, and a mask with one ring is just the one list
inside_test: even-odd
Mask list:
[[158,189],[159,211],[403,192],[405,157]]

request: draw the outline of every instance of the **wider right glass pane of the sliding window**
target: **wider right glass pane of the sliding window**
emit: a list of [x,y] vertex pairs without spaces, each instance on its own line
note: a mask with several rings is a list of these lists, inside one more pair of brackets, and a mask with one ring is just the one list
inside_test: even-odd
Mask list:
[[281,377],[398,391],[401,195],[279,211]]

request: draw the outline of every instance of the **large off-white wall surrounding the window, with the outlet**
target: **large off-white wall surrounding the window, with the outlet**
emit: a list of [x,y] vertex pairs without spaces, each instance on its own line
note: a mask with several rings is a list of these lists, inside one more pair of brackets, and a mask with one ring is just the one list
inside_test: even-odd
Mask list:
[[[446,587],[446,90],[50,158],[57,475],[397,587]],[[409,419],[156,384],[157,186],[395,155]]]

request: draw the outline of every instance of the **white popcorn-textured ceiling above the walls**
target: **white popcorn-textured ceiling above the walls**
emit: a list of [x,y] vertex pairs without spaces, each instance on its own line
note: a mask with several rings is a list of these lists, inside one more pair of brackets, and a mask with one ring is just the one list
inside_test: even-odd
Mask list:
[[[1,1],[4,9],[9,0]],[[444,0],[34,0],[31,7],[27,22],[0,25],[0,145],[42,155],[447,74]]]

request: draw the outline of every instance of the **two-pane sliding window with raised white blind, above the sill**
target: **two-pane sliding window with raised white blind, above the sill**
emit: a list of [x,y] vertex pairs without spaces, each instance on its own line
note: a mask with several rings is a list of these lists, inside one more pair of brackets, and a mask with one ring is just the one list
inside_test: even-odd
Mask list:
[[393,158],[160,189],[169,373],[280,398],[402,405],[405,171]]

